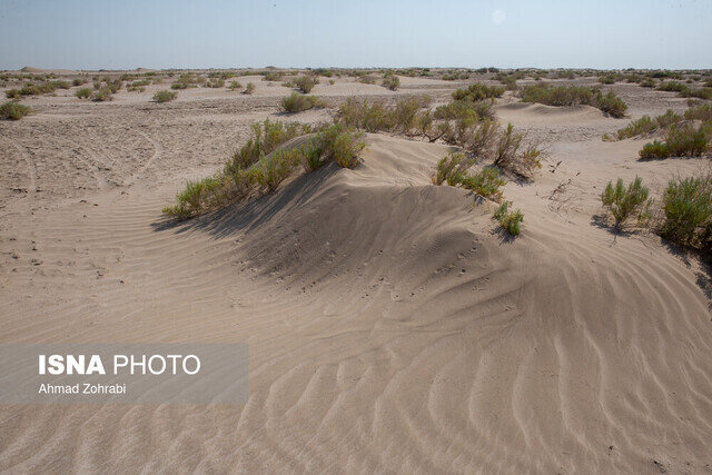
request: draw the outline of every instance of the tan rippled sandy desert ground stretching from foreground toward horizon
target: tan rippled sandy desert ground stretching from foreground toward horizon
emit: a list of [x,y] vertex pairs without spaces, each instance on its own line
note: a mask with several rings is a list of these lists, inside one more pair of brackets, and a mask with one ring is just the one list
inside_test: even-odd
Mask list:
[[[243,83],[248,79],[240,78]],[[639,162],[627,119],[520,105],[548,144],[506,186],[523,235],[429,176],[447,151],[368,136],[246,207],[171,225],[161,207],[218,169],[288,90],[181,91],[157,105],[23,100],[0,122],[1,340],[249,344],[245,406],[0,406],[8,472],[712,472],[710,273],[599,225],[611,178],[654,190],[704,160]],[[404,80],[445,100],[457,83]],[[673,93],[614,87],[632,118]],[[346,80],[314,93],[393,95]],[[708,295],[705,296],[705,291]]]

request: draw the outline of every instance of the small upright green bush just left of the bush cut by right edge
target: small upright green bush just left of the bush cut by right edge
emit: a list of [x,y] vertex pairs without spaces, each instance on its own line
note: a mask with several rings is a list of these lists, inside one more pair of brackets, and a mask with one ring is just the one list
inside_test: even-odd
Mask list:
[[601,194],[601,202],[613,215],[615,229],[621,229],[625,221],[634,216],[639,222],[646,219],[651,206],[649,195],[650,190],[643,186],[642,178],[635,177],[627,188],[623,179],[619,178],[615,186],[609,181]]

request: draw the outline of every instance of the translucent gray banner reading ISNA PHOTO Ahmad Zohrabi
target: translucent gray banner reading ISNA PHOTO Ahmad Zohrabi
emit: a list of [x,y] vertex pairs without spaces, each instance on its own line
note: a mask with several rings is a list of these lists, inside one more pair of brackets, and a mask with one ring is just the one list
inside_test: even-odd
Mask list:
[[4,404],[245,404],[245,344],[0,344]]

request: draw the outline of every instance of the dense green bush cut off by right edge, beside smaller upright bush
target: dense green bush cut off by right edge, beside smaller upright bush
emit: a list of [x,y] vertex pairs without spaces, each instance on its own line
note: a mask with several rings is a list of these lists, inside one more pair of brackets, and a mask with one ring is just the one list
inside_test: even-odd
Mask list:
[[684,246],[708,247],[712,238],[712,178],[670,180],[662,198],[659,232]]

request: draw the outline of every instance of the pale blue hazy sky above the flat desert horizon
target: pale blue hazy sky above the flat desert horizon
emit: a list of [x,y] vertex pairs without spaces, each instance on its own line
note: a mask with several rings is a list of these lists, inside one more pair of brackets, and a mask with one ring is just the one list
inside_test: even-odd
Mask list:
[[0,69],[712,68],[712,0],[0,0]]

